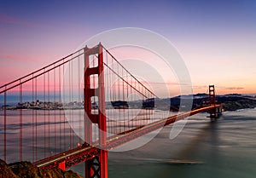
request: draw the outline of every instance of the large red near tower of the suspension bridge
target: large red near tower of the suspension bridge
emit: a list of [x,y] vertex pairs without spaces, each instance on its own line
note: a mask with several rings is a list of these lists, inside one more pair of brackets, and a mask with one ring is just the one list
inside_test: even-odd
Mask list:
[[[101,43],[91,49],[87,46],[84,48],[84,141],[88,144],[92,143],[92,123],[96,123],[101,147],[105,146],[107,141],[102,49]],[[92,62],[95,56],[97,61]],[[96,64],[92,66],[92,63]],[[92,81],[92,76],[97,79]],[[92,112],[93,100],[98,101],[96,112]],[[108,178],[107,151],[101,149],[99,155],[85,162],[85,177]]]

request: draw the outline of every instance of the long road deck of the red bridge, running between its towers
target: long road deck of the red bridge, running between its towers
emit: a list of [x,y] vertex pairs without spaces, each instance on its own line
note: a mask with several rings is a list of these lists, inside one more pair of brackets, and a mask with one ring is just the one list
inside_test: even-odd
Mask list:
[[[107,145],[104,146],[103,148],[106,150],[111,150],[114,147],[120,146],[129,141],[135,140],[142,135],[146,135],[156,129],[160,129],[163,126],[169,125],[178,120],[182,120],[189,116],[195,115],[196,113],[207,112],[207,111],[210,111],[210,110],[212,110],[214,108],[218,108],[218,107],[220,107],[220,105],[217,105],[217,104],[214,106],[204,106],[204,107],[195,109],[190,112],[183,112],[181,114],[174,115],[172,117],[162,119],[162,120],[156,121],[154,123],[149,123],[147,125],[138,127],[136,129],[131,129],[129,131],[125,131],[123,133],[120,133],[119,135],[110,136],[110,137],[108,137]],[[99,155],[100,149],[97,148],[97,147],[100,147],[99,143],[95,142],[92,145],[93,146],[89,146],[89,145],[79,146],[79,147],[73,148],[72,150],[69,150],[67,152],[61,152],[61,153],[51,156],[49,158],[44,158],[44,159],[38,160],[37,162],[34,162],[33,164],[37,165],[38,167],[45,168],[45,169],[46,168],[52,169],[55,167],[61,167],[63,169],[63,164],[64,164],[64,168],[68,169],[70,167],[73,167],[74,165],[81,164],[86,160],[94,158],[96,155]]]

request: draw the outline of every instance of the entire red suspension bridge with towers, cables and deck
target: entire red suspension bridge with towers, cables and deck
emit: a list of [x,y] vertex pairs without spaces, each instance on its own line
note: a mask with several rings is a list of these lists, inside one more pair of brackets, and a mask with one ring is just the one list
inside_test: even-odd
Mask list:
[[218,118],[221,107],[210,85],[207,105],[154,111],[160,98],[101,43],[4,84],[0,97],[0,158],[63,170],[85,163],[85,177],[101,178],[108,150],[198,112]]

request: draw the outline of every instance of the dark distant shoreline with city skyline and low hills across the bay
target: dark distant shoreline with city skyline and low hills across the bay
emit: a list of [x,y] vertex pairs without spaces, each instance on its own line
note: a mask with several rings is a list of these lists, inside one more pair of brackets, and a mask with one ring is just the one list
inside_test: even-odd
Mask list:
[[[187,98],[186,98],[187,97]],[[193,95],[190,98],[193,99],[192,104],[192,110],[198,107],[201,107],[203,103],[207,104],[207,94],[197,94]],[[168,110],[169,106],[166,106],[166,104],[170,103],[170,111],[171,108],[174,106],[175,108],[179,108],[180,106],[180,100],[181,96],[176,96],[172,98],[166,98],[166,99],[154,99],[157,103],[154,109],[156,110]],[[185,96],[185,99],[183,100],[191,100],[188,96]],[[256,107],[256,98],[254,95],[239,95],[239,94],[230,94],[230,95],[217,95],[216,96],[217,103],[221,103],[223,106],[224,111],[236,111],[239,109],[246,109],[246,108],[254,108]],[[142,100],[133,100],[129,101],[129,108],[130,109],[142,109]],[[96,104],[94,103],[95,107]],[[59,102],[53,102],[53,101],[26,101],[23,103],[16,103],[16,104],[7,104],[6,106],[0,106],[1,110],[79,110],[84,109],[84,102],[80,101],[73,101],[69,103],[59,103]],[[111,106],[110,101],[106,101],[106,109],[111,109],[113,106]]]

